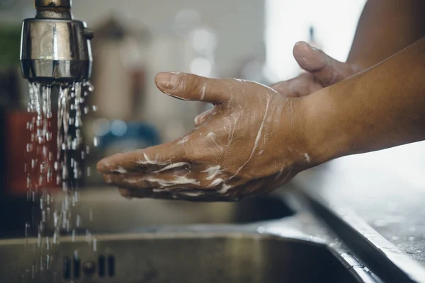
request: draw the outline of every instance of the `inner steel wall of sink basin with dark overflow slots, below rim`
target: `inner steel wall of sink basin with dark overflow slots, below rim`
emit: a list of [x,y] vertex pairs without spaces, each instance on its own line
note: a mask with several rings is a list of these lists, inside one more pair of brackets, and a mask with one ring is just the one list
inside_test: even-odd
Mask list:
[[[84,238],[62,238],[50,256],[47,282],[361,282],[328,246],[254,233],[99,236],[96,252]],[[0,262],[2,282],[14,282],[11,270],[30,276],[22,240],[0,241]],[[44,282],[38,276],[25,282]]]

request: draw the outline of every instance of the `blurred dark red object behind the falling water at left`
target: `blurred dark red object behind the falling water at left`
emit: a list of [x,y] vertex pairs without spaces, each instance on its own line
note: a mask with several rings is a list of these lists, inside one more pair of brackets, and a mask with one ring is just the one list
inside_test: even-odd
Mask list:
[[[53,161],[50,161],[50,166],[53,168],[57,156],[57,120],[55,119],[57,113],[53,112],[52,114],[52,139],[47,142],[46,146],[47,151],[51,151],[53,154]],[[28,154],[26,151],[26,146],[31,141],[31,132],[27,129],[27,122],[30,122],[33,117],[33,113],[25,110],[6,113],[4,132],[4,139],[6,139],[6,149],[4,149],[6,151],[6,193],[15,197],[25,196],[27,193],[27,177],[24,168],[25,164],[30,163],[31,158],[35,156],[35,153]],[[55,171],[52,170],[52,173],[52,180],[45,187],[49,191],[56,191],[60,186],[56,184]],[[33,177],[37,177],[37,175],[34,174]]]

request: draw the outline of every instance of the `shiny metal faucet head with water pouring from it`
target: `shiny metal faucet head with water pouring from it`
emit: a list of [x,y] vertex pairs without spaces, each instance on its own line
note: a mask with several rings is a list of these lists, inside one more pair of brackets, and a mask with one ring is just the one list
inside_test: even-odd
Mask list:
[[74,20],[71,8],[72,0],[35,0],[35,18],[22,25],[24,79],[50,85],[90,79],[94,33]]

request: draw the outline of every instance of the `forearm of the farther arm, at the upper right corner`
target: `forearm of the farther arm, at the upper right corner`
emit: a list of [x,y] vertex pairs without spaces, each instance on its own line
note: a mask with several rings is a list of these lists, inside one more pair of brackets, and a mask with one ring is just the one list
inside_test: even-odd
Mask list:
[[425,1],[369,0],[347,62],[367,69],[425,35]]

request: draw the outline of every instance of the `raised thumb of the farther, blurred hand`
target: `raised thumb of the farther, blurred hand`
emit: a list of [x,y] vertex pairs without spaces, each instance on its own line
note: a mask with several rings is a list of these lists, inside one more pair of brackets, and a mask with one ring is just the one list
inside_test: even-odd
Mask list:
[[307,42],[295,43],[293,54],[300,67],[313,74],[324,87],[351,76],[348,64],[339,62]]

